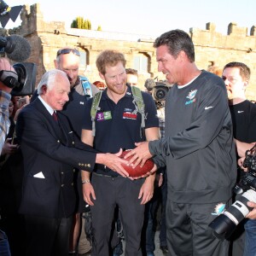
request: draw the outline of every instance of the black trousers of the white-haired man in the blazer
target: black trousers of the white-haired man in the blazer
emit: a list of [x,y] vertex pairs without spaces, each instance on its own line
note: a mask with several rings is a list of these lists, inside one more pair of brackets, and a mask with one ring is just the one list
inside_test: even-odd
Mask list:
[[41,218],[25,216],[26,256],[67,256],[69,232],[73,216],[69,218]]

